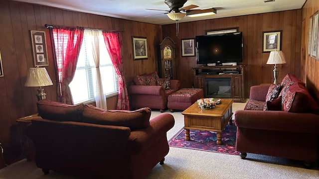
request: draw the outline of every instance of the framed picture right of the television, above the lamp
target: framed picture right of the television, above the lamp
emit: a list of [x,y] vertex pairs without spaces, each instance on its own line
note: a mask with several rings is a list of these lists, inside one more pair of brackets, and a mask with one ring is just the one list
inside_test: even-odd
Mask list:
[[263,32],[263,52],[281,50],[282,30]]

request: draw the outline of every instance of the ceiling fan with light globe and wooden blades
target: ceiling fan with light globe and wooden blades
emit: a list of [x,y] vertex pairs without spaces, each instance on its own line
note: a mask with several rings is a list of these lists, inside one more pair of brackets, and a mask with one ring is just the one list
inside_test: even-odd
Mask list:
[[[165,13],[160,14],[167,14],[168,18],[172,20],[180,20],[185,17],[185,15],[193,17],[193,16],[199,16],[199,15],[211,15],[216,14],[216,9],[209,8],[209,9],[193,9],[198,7],[198,5],[187,5],[183,6],[187,0],[164,0],[165,4],[168,5],[169,10],[161,10],[161,9],[148,9],[147,10],[160,10],[160,11],[166,11]],[[186,13],[181,13],[186,12]],[[154,15],[160,15],[160,14],[154,14]],[[154,16],[154,15],[148,15]]]

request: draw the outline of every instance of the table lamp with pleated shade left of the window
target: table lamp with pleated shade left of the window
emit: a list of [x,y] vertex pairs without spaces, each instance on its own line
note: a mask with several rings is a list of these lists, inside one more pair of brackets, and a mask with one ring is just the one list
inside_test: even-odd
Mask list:
[[24,84],[25,87],[39,87],[37,89],[38,93],[36,96],[38,97],[38,101],[46,98],[46,93],[43,92],[41,87],[46,87],[53,85],[50,79],[50,76],[45,68],[30,68],[28,77]]

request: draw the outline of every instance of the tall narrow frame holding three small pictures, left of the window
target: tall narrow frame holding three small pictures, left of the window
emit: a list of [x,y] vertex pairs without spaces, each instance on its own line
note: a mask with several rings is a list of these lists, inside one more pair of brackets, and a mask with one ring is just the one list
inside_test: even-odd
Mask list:
[[33,61],[35,67],[48,66],[48,52],[46,46],[46,36],[44,31],[30,30],[33,51]]

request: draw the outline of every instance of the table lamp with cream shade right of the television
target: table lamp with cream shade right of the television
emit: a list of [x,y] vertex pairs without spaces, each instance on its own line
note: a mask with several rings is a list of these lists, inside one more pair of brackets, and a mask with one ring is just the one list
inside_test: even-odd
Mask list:
[[269,54],[269,58],[267,61],[267,64],[275,64],[275,69],[274,71],[274,84],[278,85],[278,72],[279,70],[277,69],[277,64],[285,64],[286,63],[286,59],[285,59],[285,55],[283,53],[283,51],[271,51]]

